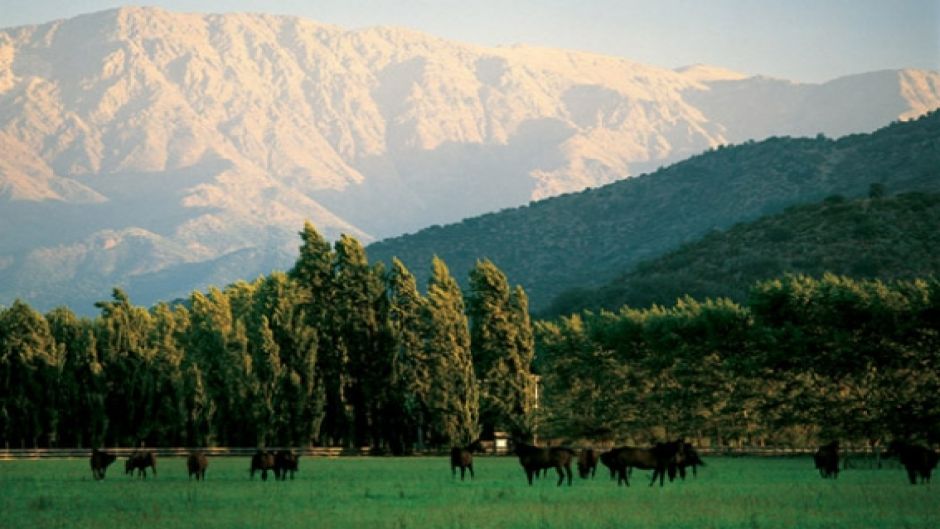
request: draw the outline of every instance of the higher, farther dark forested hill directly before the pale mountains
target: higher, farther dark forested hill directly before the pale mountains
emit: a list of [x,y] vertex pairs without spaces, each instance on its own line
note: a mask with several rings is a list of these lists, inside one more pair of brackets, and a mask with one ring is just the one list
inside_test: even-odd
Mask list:
[[[456,277],[487,257],[544,310],[574,287],[599,286],[711,230],[840,194],[940,191],[940,113],[838,140],[771,138],[721,147],[658,171],[528,206],[433,226],[368,247],[374,259]],[[423,284],[425,277],[418,277]]]

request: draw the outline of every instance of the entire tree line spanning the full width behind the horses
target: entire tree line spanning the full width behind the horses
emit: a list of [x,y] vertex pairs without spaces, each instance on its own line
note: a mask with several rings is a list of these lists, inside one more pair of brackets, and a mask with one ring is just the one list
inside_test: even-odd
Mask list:
[[533,324],[490,261],[461,291],[434,258],[422,293],[352,237],[300,235],[290,271],[172,304],[115,289],[93,319],[0,308],[0,446],[940,441],[936,279],[790,275],[746,304]]

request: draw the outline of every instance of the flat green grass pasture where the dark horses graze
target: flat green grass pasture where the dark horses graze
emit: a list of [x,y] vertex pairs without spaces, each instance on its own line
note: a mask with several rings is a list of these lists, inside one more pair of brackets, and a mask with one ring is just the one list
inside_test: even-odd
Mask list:
[[[248,458],[210,459],[190,482],[182,459],[159,476],[104,481],[87,459],[0,461],[0,528],[390,527],[940,527],[940,480],[907,484],[900,468],[848,470],[823,480],[810,458],[709,458],[697,479],[617,487],[597,478],[529,487],[515,458],[478,457],[477,477],[451,479],[445,458],[304,458],[297,479],[248,479]],[[603,474],[603,475],[602,475]]]

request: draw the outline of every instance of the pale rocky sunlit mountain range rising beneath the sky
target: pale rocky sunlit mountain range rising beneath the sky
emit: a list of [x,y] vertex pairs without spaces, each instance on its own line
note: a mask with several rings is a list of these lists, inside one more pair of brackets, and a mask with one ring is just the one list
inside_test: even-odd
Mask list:
[[[368,241],[729,141],[869,131],[940,106],[938,79],[905,70],[804,85],[153,8],[0,30],[0,301],[83,310],[141,274],[167,278],[172,298],[205,286],[174,267],[264,272],[229,277],[223,256],[291,255],[304,219]],[[779,112],[742,114],[737,100]],[[160,290],[148,284],[148,296]]]

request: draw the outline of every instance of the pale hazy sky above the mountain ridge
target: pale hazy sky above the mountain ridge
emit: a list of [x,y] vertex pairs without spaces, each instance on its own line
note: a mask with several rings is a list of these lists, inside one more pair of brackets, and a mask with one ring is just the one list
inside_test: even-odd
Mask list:
[[[0,27],[120,5],[0,0]],[[348,28],[406,26],[483,45],[588,50],[819,82],[886,68],[940,70],[940,0],[151,0],[185,12],[292,14]]]

